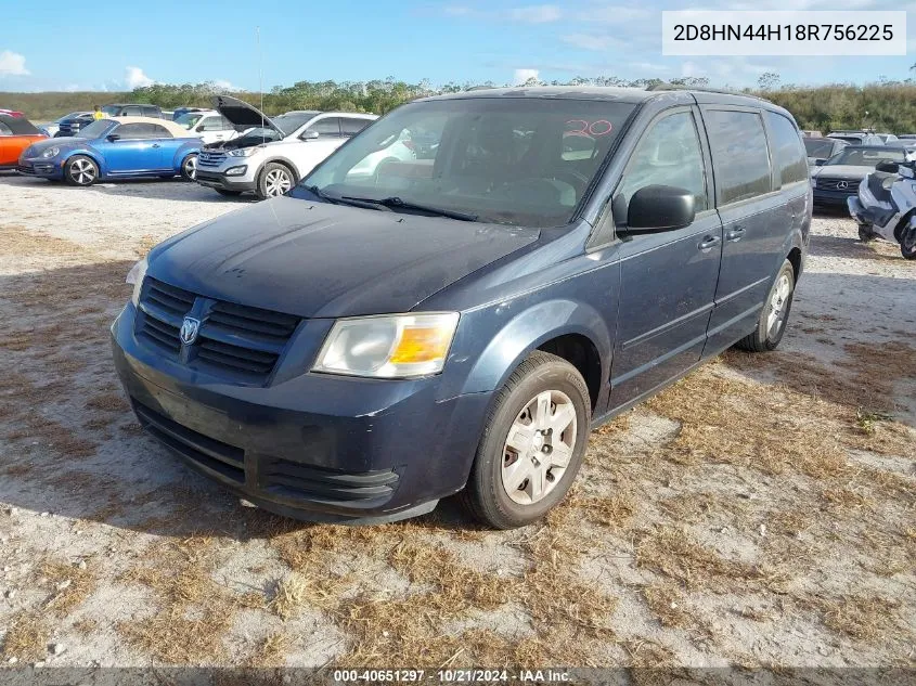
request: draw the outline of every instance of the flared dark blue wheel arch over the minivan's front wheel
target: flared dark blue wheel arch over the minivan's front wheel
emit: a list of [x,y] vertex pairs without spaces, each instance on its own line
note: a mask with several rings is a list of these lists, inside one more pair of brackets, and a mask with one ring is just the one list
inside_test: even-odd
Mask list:
[[[500,307],[503,306],[496,306],[494,315],[499,314]],[[532,350],[568,334],[584,336],[594,345],[601,358],[602,381],[608,378],[612,342],[604,318],[588,303],[554,299],[526,308],[502,326],[477,357],[461,393],[487,392],[502,387]],[[602,383],[602,394],[604,386]]]

